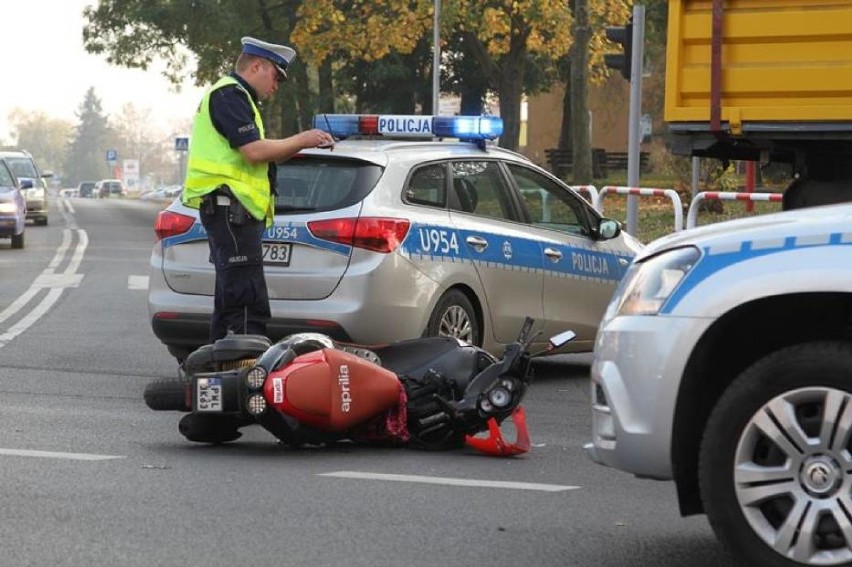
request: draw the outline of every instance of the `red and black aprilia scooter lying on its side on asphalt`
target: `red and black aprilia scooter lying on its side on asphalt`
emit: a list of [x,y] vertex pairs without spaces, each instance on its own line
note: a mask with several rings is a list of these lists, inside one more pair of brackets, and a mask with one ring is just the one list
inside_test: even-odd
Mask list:
[[[342,440],[426,449],[465,444],[491,455],[530,448],[520,403],[532,378],[530,359],[574,338],[565,331],[531,354],[532,319],[497,359],[451,337],[410,339],[365,348],[317,333],[274,344],[230,335],[190,354],[179,378],[148,384],[154,410],[188,412],[179,424],[190,441],[225,443],[259,424],[290,446]],[[512,417],[517,440],[500,424]],[[477,436],[487,431],[488,436]]]

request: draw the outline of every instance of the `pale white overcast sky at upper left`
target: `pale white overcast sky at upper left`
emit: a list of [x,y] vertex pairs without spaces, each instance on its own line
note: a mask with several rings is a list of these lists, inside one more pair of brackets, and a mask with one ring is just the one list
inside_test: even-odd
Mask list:
[[176,93],[158,69],[117,67],[105,56],[83,49],[83,9],[96,0],[17,0],[4,2],[3,87],[0,88],[0,144],[13,142],[8,116],[15,109],[42,111],[77,122],[76,111],[89,87],[103,112],[117,116],[132,103],[151,110],[153,127],[164,136],[183,130],[202,89],[187,79]]

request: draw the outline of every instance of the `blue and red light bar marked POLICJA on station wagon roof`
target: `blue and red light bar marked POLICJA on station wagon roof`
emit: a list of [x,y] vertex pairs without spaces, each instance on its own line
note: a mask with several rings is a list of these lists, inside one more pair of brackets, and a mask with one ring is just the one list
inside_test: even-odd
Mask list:
[[314,128],[338,139],[360,135],[480,141],[499,138],[503,134],[503,120],[496,116],[317,114]]

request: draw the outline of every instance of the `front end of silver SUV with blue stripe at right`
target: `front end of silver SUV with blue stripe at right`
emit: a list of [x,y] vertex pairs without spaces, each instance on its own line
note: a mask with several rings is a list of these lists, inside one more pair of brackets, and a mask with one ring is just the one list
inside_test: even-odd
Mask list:
[[601,322],[596,462],[674,479],[748,565],[852,565],[852,205],[655,241]]

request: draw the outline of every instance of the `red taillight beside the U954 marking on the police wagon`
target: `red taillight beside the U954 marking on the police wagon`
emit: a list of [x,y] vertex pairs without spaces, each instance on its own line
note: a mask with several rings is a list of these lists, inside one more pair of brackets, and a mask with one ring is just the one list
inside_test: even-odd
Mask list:
[[407,219],[361,217],[311,221],[308,230],[316,238],[387,254],[405,240]]

